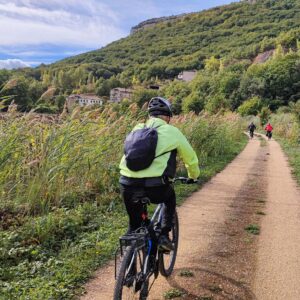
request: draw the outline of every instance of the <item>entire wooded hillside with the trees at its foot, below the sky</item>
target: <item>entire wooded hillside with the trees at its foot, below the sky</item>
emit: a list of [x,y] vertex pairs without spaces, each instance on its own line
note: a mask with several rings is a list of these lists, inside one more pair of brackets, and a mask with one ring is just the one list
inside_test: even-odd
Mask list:
[[[0,71],[0,97],[20,110],[51,113],[70,93],[107,99],[114,87],[133,87],[132,101],[142,106],[147,87],[159,84],[176,113],[274,111],[300,97],[299,26],[298,0],[232,3],[158,22],[50,66]],[[193,82],[174,81],[191,69],[198,70]]]

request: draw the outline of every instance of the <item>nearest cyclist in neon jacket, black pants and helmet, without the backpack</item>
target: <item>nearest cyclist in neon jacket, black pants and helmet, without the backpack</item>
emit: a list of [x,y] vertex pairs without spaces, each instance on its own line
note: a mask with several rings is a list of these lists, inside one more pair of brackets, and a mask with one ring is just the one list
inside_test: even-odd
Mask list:
[[197,179],[200,171],[198,158],[179,129],[170,125],[172,117],[171,105],[162,97],[154,97],[148,104],[149,119],[145,124],[138,124],[132,132],[142,128],[156,128],[157,146],[155,157],[149,167],[139,171],[132,171],[127,166],[124,155],[120,163],[120,189],[129,216],[128,232],[141,226],[142,204],[134,201],[136,193],[144,192],[151,203],[164,203],[162,232],[159,247],[166,251],[173,250],[169,239],[172,219],[176,207],[176,196],[169,179],[174,178],[176,172],[176,155],[182,158],[188,171],[190,182]]

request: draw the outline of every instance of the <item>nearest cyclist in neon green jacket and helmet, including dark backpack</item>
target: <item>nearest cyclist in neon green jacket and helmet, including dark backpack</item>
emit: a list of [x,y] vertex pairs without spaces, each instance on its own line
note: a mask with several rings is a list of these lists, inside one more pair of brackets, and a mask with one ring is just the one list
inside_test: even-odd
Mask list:
[[164,203],[162,235],[159,247],[173,250],[169,239],[176,196],[169,179],[176,172],[176,155],[182,158],[190,183],[199,176],[198,158],[181,131],[170,125],[172,117],[168,100],[154,97],[148,104],[150,118],[138,124],[125,140],[125,155],[120,163],[121,194],[129,216],[129,232],[142,223],[142,203],[134,201],[135,195],[145,193],[152,203]]

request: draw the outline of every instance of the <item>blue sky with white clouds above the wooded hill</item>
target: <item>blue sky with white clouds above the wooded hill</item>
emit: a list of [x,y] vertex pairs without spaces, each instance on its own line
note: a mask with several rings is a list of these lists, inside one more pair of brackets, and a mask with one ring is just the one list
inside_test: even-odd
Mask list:
[[0,69],[49,64],[126,37],[151,18],[234,0],[0,0]]

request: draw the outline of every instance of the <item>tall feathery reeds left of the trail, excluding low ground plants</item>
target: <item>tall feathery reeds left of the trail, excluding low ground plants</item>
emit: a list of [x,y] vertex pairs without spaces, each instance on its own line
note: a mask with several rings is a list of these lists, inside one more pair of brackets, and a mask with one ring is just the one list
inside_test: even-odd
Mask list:
[[[110,202],[117,191],[124,136],[143,118],[131,106],[123,116],[106,109],[75,111],[57,123],[36,121],[30,114],[1,122],[1,208],[39,215],[83,201]],[[235,115],[227,120],[193,114],[174,119],[202,163],[230,153],[239,138],[239,122]]]

